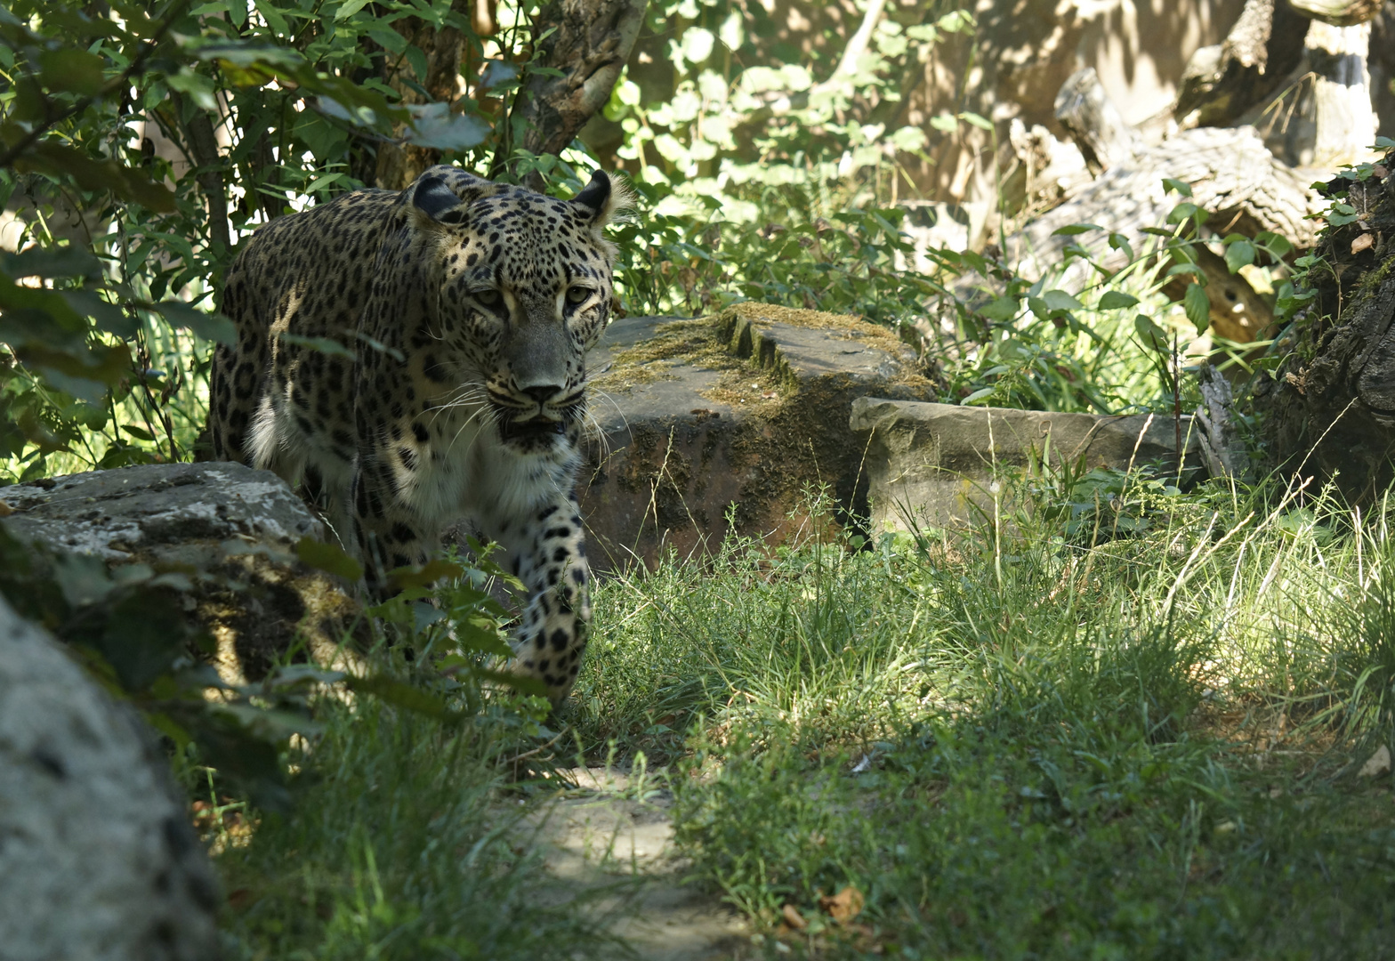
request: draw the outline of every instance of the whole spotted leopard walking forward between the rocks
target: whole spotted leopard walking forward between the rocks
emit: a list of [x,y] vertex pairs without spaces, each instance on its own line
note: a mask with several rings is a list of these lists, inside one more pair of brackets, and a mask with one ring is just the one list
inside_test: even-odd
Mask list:
[[370,590],[462,519],[502,548],[529,591],[512,669],[554,703],[590,621],[573,484],[625,202],[598,170],[559,201],[435,166],[279,218],[227,273],[213,356],[213,455],[304,483]]

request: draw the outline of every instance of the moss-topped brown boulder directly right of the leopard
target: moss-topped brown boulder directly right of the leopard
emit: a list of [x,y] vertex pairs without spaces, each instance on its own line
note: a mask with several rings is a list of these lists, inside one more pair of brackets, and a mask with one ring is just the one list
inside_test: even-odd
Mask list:
[[855,398],[933,396],[915,351],[854,317],[745,303],[696,319],[632,317],[591,353],[596,437],[579,494],[598,569],[778,541],[806,494],[865,510]]

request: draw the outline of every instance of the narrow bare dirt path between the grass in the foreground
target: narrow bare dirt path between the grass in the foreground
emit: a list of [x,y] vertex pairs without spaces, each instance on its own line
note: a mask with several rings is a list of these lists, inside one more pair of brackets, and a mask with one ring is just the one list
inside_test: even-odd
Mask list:
[[[578,785],[527,819],[545,845],[548,870],[572,893],[612,888],[601,902],[611,930],[644,961],[737,961],[752,954],[741,916],[681,884],[686,865],[672,844],[667,791],[642,791],[604,769],[559,771]],[[643,796],[643,801],[636,801]]]

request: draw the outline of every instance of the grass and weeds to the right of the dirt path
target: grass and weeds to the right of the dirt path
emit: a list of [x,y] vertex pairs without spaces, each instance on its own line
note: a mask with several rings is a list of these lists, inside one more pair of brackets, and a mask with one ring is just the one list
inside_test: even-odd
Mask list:
[[607,582],[583,742],[671,764],[771,957],[1389,957],[1387,512],[1066,480]]

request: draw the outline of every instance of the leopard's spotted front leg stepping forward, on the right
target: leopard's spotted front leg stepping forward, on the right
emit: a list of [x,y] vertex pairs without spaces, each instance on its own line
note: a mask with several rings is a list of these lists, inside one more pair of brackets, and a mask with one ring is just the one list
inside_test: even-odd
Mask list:
[[527,589],[511,669],[541,679],[559,704],[576,683],[591,621],[591,572],[576,495],[558,494],[527,515],[483,523],[480,533],[504,548],[504,566]]

